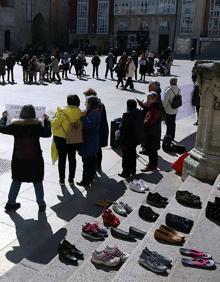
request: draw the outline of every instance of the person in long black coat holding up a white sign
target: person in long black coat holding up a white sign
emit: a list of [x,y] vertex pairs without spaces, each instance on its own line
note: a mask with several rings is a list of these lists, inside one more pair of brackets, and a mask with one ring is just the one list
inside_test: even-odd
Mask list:
[[16,202],[21,183],[33,182],[39,211],[44,212],[43,178],[44,160],[39,142],[40,137],[50,137],[51,128],[48,116],[44,115],[44,126],[36,119],[35,108],[32,105],[23,106],[19,119],[7,124],[7,112],[2,114],[0,132],[14,136],[14,150],[12,156],[12,184],[10,187],[6,211],[20,208]]

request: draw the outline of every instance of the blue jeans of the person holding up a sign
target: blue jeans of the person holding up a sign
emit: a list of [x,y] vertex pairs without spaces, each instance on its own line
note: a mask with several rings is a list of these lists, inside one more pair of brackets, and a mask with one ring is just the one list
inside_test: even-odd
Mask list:
[[[12,181],[10,191],[8,194],[8,203],[9,204],[14,204],[16,202],[20,187],[21,187],[20,181]],[[34,190],[35,190],[35,195],[37,199],[37,203],[39,206],[44,206],[44,188],[43,188],[43,183],[42,182],[33,182],[34,184]]]

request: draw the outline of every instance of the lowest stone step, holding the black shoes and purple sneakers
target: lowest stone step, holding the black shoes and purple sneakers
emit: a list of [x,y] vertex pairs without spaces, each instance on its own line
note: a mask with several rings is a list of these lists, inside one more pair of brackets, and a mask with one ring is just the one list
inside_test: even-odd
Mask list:
[[[167,174],[163,178],[163,175],[160,173],[156,175],[142,175],[142,178],[149,183],[151,189],[156,185],[157,182],[159,182],[161,179],[162,181],[159,183],[165,183],[165,185],[169,185],[169,182],[171,178],[174,178],[172,174]],[[69,201],[65,203],[65,211],[76,209],[80,210],[80,214],[75,216],[66,226],[64,229],[58,232],[58,234],[54,234],[48,241],[46,241],[41,248],[34,251],[30,256],[28,256],[26,259],[23,259],[20,263],[18,263],[13,269],[11,269],[9,272],[6,273],[3,278],[5,278],[4,281],[30,281],[30,277],[34,277],[35,274],[37,275],[38,272],[45,271],[45,275],[47,272],[51,270],[51,273],[54,272],[57,273],[56,275],[65,274],[68,271],[72,271],[72,266],[66,266],[65,264],[61,264],[58,257],[56,256],[57,252],[57,245],[58,242],[65,237],[67,240],[74,242],[77,246],[82,248],[82,251],[85,253],[85,257],[87,253],[91,253],[93,247],[93,244],[95,243],[88,243],[87,246],[87,240],[84,240],[81,235],[81,225],[84,222],[90,222],[97,220],[97,217],[101,214],[102,209],[99,207],[96,207],[93,205],[93,202],[95,202],[97,199],[101,198],[109,198],[111,200],[117,200],[118,198],[123,195],[122,200],[128,202],[132,206],[136,206],[137,203],[140,203],[142,201],[142,194],[134,193],[130,190],[126,190],[125,185],[123,182],[117,183],[114,181],[112,183],[112,180],[110,180],[110,183],[108,185],[108,181],[103,180],[104,185],[101,185],[102,182],[99,182],[97,186],[93,187],[92,193],[89,193],[90,201],[88,202],[82,202],[82,201]],[[131,196],[132,195],[132,196]],[[88,195],[87,195],[88,197]],[[81,208],[79,209],[80,206]],[[62,215],[62,210],[59,211],[59,216]],[[100,218],[101,219],[101,218]],[[98,220],[99,221],[99,220]],[[100,220],[101,222],[101,220]],[[61,236],[62,234],[62,236]],[[57,239],[55,239],[57,238]],[[91,248],[91,251],[88,252],[87,248]],[[37,259],[36,259],[37,258]],[[82,263],[82,262],[81,262]],[[48,267],[49,271],[46,270]],[[58,270],[59,268],[59,270]],[[63,272],[63,273],[62,273]],[[48,274],[49,275],[49,274]],[[56,279],[56,275],[54,275]],[[49,279],[49,278],[48,278]]]

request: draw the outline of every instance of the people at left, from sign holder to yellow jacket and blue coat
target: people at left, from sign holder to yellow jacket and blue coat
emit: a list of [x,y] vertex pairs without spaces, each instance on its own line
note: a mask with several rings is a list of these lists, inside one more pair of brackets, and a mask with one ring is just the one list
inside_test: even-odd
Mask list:
[[[0,120],[0,132],[14,136],[14,151],[12,156],[12,184],[10,187],[7,211],[20,208],[16,202],[22,182],[33,182],[39,211],[45,211],[43,178],[44,161],[40,147],[40,137],[50,137],[53,134],[52,159],[58,160],[59,183],[65,185],[66,158],[69,161],[68,182],[74,185],[76,170],[76,151],[82,157],[83,175],[79,186],[89,187],[96,171],[101,170],[102,147],[108,145],[108,122],[104,104],[93,89],[84,92],[86,110],[79,108],[80,99],[77,95],[67,97],[67,106],[57,108],[55,117],[49,121],[44,116],[44,123],[36,119],[32,105],[23,106],[20,118],[12,120],[7,125],[7,112]],[[67,131],[71,123],[78,123],[82,128],[83,142],[67,144]],[[44,124],[44,125],[43,125]]]

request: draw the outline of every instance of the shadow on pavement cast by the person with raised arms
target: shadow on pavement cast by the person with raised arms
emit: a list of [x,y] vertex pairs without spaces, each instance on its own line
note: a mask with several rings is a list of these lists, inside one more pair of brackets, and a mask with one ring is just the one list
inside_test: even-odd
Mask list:
[[[45,213],[39,213],[38,220],[25,220],[17,212],[10,213],[9,216],[15,224],[17,240],[20,245],[13,247],[13,250],[6,253],[6,258],[9,261],[17,264],[26,258],[34,263],[47,264],[57,255],[57,246],[67,233],[65,228],[61,228],[53,234]],[[20,229],[21,226],[25,231]],[[43,244],[47,241],[50,244],[49,252]]]

